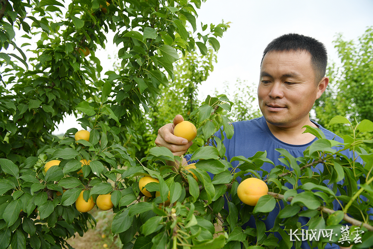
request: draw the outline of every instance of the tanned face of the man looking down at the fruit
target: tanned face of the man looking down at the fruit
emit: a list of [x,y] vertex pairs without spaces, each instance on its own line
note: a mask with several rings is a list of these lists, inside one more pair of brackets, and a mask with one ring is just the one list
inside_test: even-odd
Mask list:
[[325,87],[315,82],[308,52],[272,51],[265,55],[262,62],[259,107],[272,125],[287,128],[303,126],[308,124],[309,111]]

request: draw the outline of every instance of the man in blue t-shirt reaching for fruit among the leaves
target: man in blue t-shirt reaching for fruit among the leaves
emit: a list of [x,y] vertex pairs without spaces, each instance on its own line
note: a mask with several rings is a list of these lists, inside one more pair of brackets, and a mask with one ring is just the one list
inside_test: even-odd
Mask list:
[[[228,162],[234,156],[252,157],[258,151],[267,151],[267,158],[275,165],[283,165],[278,159],[280,153],[275,149],[286,149],[295,158],[302,157],[304,150],[317,138],[303,133],[305,125],[320,128],[327,139],[336,137],[332,132],[319,126],[309,118],[309,112],[325,91],[329,79],[325,77],[327,52],[319,41],[298,34],[286,34],[273,40],[263,53],[260,82],[258,85],[259,107],[263,117],[233,123],[234,136],[225,139]],[[177,115],[173,124],[167,124],[158,131],[157,146],[170,149],[174,155],[187,152],[192,142],[173,135],[174,127],[183,121]],[[219,136],[219,133],[216,133]],[[343,140],[336,137],[335,140]],[[350,156],[350,155],[349,155]],[[190,159],[187,155],[184,164]],[[191,163],[191,162],[189,162]],[[237,166],[238,162],[233,162]],[[271,164],[262,169],[270,171]],[[316,166],[313,170],[319,170]],[[279,210],[274,210],[265,221],[267,230],[271,229]],[[302,223],[306,223],[306,219]],[[252,227],[253,219],[249,221]],[[302,248],[309,248],[306,243]],[[337,245],[327,248],[338,248]]]

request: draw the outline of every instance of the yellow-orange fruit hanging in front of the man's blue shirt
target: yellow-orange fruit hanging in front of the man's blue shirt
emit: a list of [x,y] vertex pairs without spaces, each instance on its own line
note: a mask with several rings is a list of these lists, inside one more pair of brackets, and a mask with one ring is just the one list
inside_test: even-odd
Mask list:
[[250,206],[255,206],[263,195],[268,193],[267,184],[261,179],[251,177],[243,180],[237,188],[240,200]]

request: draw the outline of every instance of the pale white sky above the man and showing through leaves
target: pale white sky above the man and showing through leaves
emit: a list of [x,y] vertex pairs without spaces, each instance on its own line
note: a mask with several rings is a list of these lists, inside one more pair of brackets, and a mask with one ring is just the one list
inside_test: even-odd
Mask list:
[[[218,62],[209,78],[199,86],[198,99],[223,91],[224,83],[237,79],[247,84],[259,82],[262,52],[273,39],[286,33],[314,37],[325,44],[329,62],[338,63],[333,45],[336,34],[345,40],[357,39],[373,25],[373,0],[206,0],[197,9],[200,23],[218,24],[230,21],[230,28],[219,38]],[[109,45],[110,38],[106,48]],[[96,52],[107,57],[107,49]],[[102,63],[103,72],[110,63]],[[54,134],[75,127],[81,129],[75,117],[67,117]]]

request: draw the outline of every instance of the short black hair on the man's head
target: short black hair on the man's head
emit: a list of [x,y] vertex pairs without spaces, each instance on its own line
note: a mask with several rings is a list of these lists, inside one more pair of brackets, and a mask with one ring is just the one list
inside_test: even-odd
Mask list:
[[271,51],[306,51],[311,54],[311,64],[317,83],[325,76],[328,54],[325,45],[312,37],[293,33],[281,35],[264,50],[261,66],[265,55]]

